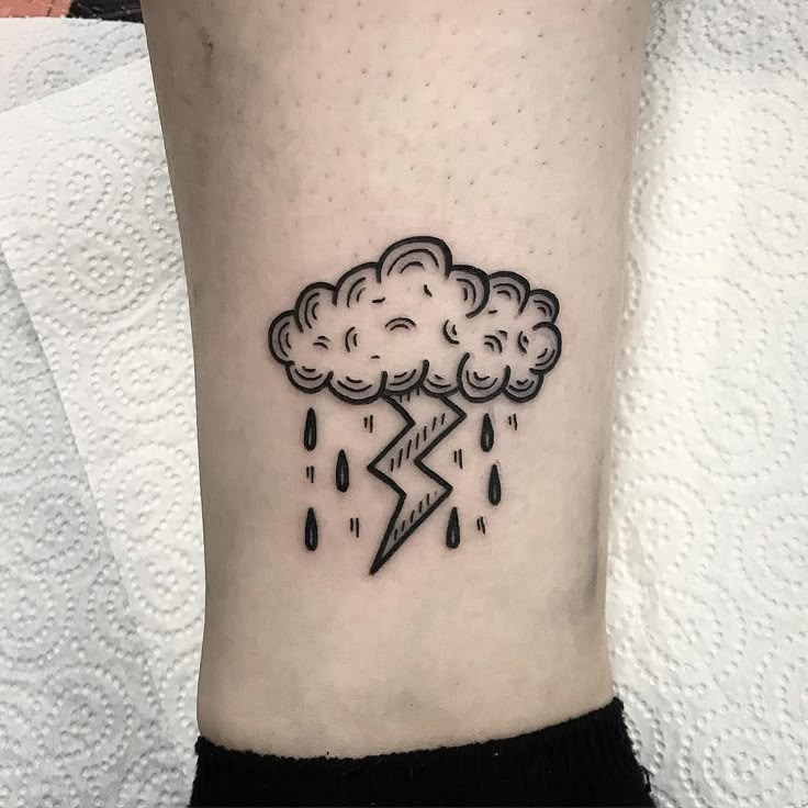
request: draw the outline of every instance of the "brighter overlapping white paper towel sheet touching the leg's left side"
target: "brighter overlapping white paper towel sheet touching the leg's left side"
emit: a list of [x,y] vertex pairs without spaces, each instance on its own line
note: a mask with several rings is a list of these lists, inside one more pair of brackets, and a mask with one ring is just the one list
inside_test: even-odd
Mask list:
[[190,759],[203,607],[192,351],[148,63],[7,112],[2,126],[0,247]]

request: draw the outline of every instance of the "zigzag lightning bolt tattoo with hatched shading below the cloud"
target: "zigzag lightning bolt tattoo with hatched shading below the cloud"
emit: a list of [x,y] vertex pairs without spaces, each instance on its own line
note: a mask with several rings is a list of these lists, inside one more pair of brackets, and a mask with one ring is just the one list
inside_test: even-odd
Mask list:
[[383,395],[382,400],[404,418],[404,427],[368,464],[368,471],[399,495],[371,564],[371,575],[451,494],[450,483],[425,465],[424,459],[465,418],[465,413],[446,396],[418,390]]

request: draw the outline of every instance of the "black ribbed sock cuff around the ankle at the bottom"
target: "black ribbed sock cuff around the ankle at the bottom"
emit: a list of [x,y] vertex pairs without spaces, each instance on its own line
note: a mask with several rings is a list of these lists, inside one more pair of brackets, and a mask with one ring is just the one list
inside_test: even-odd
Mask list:
[[503,740],[368,758],[280,758],[197,742],[191,806],[652,806],[615,698]]

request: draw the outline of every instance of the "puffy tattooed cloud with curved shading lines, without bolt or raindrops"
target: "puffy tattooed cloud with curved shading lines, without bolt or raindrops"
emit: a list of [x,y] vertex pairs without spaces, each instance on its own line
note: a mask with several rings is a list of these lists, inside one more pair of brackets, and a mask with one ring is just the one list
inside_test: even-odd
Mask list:
[[561,355],[558,314],[556,295],[517,272],[453,265],[442,240],[418,236],[307,285],[269,347],[298,390],[349,404],[416,391],[523,403]]

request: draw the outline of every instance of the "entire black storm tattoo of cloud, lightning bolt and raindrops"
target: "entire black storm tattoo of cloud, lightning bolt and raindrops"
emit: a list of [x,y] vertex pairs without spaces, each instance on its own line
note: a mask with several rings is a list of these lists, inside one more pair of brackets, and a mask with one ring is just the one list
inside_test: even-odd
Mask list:
[[[521,405],[539,393],[545,374],[559,360],[561,334],[554,294],[531,288],[510,271],[485,272],[452,263],[449,247],[429,236],[405,238],[375,262],[345,272],[335,284],[312,283],[294,308],[269,328],[272,357],[289,382],[307,394],[325,393],[351,406],[381,402],[403,427],[367,464],[367,470],[397,495],[370,566],[378,572],[401,546],[451,496],[452,486],[427,464],[427,457],[467,418],[465,408],[502,397]],[[465,408],[464,408],[465,407]],[[516,433],[516,413],[507,418]],[[373,433],[373,414],[362,426]],[[479,447],[494,450],[495,424],[482,416]],[[314,451],[317,418],[310,407],[303,446]],[[463,468],[463,450],[453,452]],[[306,476],[314,482],[314,467]],[[340,449],[335,484],[350,486],[349,460]],[[498,462],[483,483],[492,506],[502,502]],[[461,534],[452,507],[446,545],[457,549]],[[485,534],[483,516],[476,529]],[[359,535],[359,517],[350,520]],[[304,542],[317,547],[314,509],[305,519]]]

